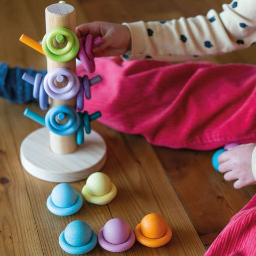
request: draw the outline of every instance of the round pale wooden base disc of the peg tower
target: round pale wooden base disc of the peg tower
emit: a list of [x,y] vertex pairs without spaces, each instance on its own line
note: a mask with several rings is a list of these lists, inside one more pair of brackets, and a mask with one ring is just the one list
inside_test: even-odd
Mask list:
[[74,153],[55,154],[50,149],[49,130],[43,127],[22,141],[20,158],[25,170],[38,179],[73,182],[100,171],[107,160],[107,146],[99,133],[91,131]]

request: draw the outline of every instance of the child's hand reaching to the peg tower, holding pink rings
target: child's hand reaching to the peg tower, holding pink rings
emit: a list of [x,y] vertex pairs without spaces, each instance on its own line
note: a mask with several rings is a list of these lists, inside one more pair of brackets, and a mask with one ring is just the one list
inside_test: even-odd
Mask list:
[[93,38],[101,36],[103,43],[92,49],[95,57],[119,56],[131,48],[131,34],[127,26],[95,21],[76,27],[78,37],[91,34]]

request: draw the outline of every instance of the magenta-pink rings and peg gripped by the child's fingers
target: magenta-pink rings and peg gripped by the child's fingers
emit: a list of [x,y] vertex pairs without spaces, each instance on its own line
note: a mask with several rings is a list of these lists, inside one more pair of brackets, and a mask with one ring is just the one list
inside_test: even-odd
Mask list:
[[92,47],[102,44],[102,38],[92,38],[92,35],[88,34],[86,37],[79,38],[79,51],[78,58],[81,60],[83,67],[89,73],[95,71],[94,56],[92,54]]

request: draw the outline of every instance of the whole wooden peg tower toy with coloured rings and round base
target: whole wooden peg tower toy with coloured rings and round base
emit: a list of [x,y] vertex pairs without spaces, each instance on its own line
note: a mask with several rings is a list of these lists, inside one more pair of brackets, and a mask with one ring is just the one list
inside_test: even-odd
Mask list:
[[74,7],[60,1],[45,9],[46,34],[42,45],[26,35],[20,37],[21,42],[47,58],[45,76],[23,75],[23,79],[34,86],[33,96],[47,113],[42,117],[25,110],[27,117],[45,127],[23,140],[21,163],[30,174],[52,182],[85,179],[98,172],[107,159],[105,141],[91,130],[91,122],[101,113],[88,113],[84,109],[84,100],[92,97],[91,86],[99,83],[101,77],[76,76],[76,58],[89,73],[95,70],[91,49],[100,45],[102,39],[91,35],[78,38],[75,20]]

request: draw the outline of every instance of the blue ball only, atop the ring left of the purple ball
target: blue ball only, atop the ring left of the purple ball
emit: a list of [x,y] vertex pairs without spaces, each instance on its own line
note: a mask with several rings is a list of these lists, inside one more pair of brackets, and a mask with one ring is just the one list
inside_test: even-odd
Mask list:
[[64,237],[66,242],[71,246],[84,246],[90,242],[92,230],[86,222],[75,220],[70,222],[66,227]]

